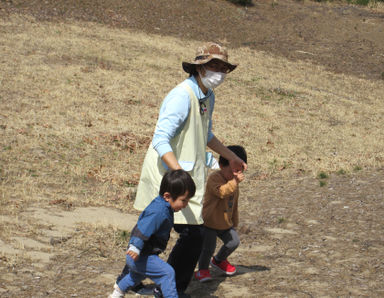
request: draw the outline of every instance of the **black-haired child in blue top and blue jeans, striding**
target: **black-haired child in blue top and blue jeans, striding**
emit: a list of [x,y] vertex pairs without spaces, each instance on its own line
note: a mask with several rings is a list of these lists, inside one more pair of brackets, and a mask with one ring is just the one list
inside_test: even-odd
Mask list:
[[125,292],[146,277],[160,286],[164,297],[178,297],[175,271],[158,255],[167,246],[173,227],[173,213],[185,208],[195,191],[195,183],[186,171],[173,170],[164,174],[159,196],[140,214],[131,232],[126,252],[129,274],[115,285],[110,298],[124,297]]

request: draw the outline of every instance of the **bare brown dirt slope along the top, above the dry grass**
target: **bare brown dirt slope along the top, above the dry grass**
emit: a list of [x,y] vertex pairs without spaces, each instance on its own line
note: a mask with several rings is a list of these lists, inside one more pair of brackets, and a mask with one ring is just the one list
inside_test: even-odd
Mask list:
[[224,0],[2,1],[0,13],[41,20],[78,19],[110,26],[249,46],[328,69],[384,79],[384,11],[313,1],[253,1],[237,7]]

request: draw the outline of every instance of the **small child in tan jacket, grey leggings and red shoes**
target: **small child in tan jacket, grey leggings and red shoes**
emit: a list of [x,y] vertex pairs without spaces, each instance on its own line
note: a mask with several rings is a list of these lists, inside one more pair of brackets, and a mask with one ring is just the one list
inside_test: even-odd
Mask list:
[[[243,147],[228,146],[228,149],[247,162],[247,154]],[[240,244],[235,228],[239,223],[237,209],[239,183],[244,180],[244,173],[233,173],[228,160],[222,156],[219,158],[219,166],[220,170],[208,177],[204,195],[204,242],[199,270],[195,273],[196,279],[200,282],[212,279],[209,264],[226,275],[236,273],[235,266],[231,265],[227,258]],[[217,255],[212,257],[216,249],[216,237],[223,241],[223,246]]]

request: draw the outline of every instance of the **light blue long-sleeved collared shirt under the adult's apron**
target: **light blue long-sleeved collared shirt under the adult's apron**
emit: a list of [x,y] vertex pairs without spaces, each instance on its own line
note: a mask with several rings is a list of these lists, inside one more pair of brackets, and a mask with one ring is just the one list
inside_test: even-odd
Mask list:
[[[185,82],[192,88],[197,99],[206,105],[210,104],[207,138],[207,142],[209,142],[214,136],[212,133],[212,113],[215,105],[215,94],[212,90],[208,90],[207,95],[204,95],[193,76],[186,79]],[[189,94],[181,86],[173,88],[165,97],[160,107],[159,119],[152,139],[152,146],[160,157],[172,151],[170,141],[183,129],[189,115],[190,106]]]

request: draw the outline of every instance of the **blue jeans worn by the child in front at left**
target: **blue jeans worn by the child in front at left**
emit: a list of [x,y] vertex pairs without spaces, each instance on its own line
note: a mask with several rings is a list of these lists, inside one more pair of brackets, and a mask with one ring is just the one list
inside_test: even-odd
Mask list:
[[125,275],[118,286],[123,292],[137,285],[146,277],[160,286],[164,297],[178,297],[175,282],[175,270],[157,255],[143,255],[134,262],[130,256],[126,256],[129,274]]

